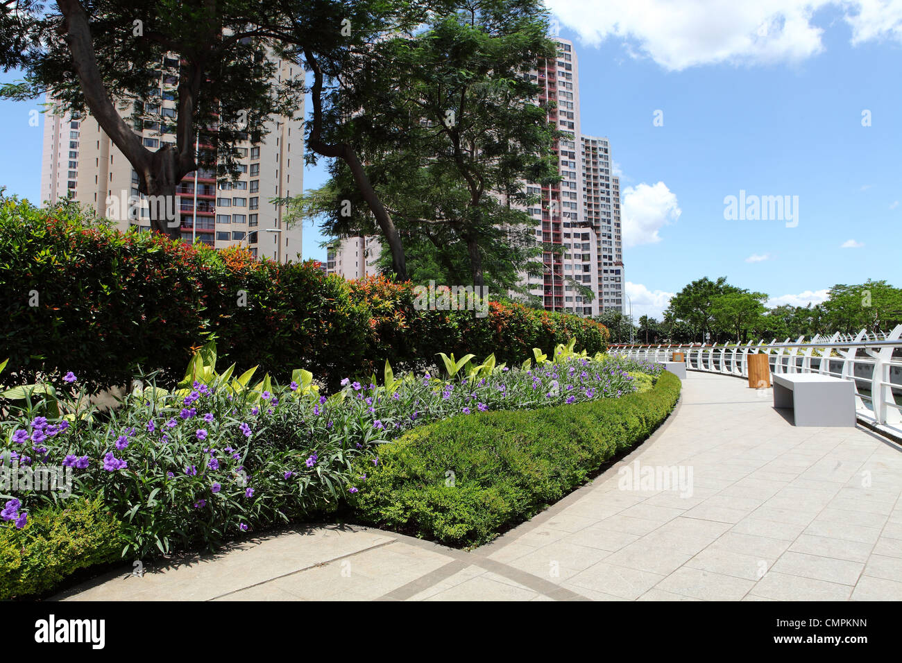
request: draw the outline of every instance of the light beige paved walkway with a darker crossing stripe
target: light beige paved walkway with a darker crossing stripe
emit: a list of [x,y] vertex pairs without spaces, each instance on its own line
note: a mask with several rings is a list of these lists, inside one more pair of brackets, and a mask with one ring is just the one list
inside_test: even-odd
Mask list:
[[[902,600],[900,447],[864,428],[796,428],[771,404],[769,390],[689,373],[649,442],[473,552],[295,529],[143,577],[123,568],[60,598]],[[682,467],[686,481],[691,469],[691,496],[621,489],[618,470],[636,460]]]

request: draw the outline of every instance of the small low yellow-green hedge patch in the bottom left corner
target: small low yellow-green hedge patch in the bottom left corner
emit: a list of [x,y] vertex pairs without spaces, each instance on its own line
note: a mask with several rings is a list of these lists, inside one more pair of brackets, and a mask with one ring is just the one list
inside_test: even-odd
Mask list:
[[122,523],[100,498],[29,513],[23,529],[0,522],[0,600],[44,594],[80,569],[120,559],[123,546]]

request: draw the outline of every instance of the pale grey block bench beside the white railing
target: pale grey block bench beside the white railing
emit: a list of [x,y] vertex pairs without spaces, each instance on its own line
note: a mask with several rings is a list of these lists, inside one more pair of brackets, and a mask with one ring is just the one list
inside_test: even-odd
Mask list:
[[855,385],[817,373],[773,376],[774,407],[792,408],[796,426],[854,426]]

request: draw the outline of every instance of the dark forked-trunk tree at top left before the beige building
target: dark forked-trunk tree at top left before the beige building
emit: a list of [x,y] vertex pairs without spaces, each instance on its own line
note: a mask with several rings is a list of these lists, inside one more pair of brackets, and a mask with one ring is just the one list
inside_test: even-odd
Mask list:
[[[299,95],[274,77],[274,44],[262,27],[278,23],[272,5],[205,0],[179,4],[178,11],[159,0],[56,5],[58,13],[32,14],[24,51],[12,52],[22,43],[3,42],[4,61],[25,72],[3,95],[47,93],[64,112],[89,111],[137,171],[139,191],[153,197],[151,224],[160,232],[179,233],[167,212],[185,175],[222,164],[219,175],[234,176],[235,144],[259,142],[271,115],[299,107]],[[175,117],[161,115],[166,77],[177,86]],[[158,150],[143,144],[145,123],[159,129]],[[196,155],[198,133],[213,147]],[[165,140],[168,134],[175,140]]]

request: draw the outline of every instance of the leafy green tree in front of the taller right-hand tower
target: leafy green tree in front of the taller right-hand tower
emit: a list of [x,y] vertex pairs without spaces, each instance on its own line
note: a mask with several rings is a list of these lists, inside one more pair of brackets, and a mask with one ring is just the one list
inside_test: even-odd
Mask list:
[[[532,0],[451,1],[421,30],[356,53],[362,66],[334,72],[323,110],[335,120],[333,142],[354,144],[373,195],[400,239],[416,246],[416,263],[451,282],[465,282],[466,264],[466,281],[514,289],[518,272],[544,268],[532,260],[541,247],[520,207],[538,201],[525,181],[557,180],[557,129],[548,106],[534,103],[538,86],[523,77],[554,57],[546,31]],[[356,176],[341,162],[330,175],[337,198],[318,193],[296,209],[324,215],[329,235],[369,234],[379,215],[352,190]]]

